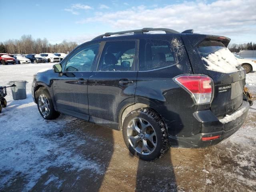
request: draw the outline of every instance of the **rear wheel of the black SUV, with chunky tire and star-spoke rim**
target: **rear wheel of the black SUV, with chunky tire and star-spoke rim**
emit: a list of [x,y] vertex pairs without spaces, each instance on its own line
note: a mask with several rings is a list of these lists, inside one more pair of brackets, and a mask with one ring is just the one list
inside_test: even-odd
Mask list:
[[169,149],[164,122],[148,108],[134,110],[126,116],[123,137],[130,152],[142,160],[156,160]]

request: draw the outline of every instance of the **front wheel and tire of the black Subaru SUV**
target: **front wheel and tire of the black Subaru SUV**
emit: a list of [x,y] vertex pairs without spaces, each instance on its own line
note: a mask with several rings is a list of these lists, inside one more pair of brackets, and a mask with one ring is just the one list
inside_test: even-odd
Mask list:
[[52,120],[60,116],[60,112],[54,110],[52,98],[46,88],[40,87],[35,95],[38,111],[44,119]]

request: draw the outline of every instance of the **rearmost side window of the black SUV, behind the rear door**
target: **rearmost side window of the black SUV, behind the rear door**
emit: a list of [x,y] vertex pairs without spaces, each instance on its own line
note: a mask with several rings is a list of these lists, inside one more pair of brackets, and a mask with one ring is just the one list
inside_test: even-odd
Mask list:
[[139,64],[140,71],[154,70],[176,64],[170,43],[164,40],[146,40],[144,61]]

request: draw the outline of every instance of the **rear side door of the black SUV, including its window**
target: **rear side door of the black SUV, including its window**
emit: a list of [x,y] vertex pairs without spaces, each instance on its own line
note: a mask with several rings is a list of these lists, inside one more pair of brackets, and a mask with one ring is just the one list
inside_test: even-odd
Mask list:
[[88,80],[90,122],[118,129],[123,106],[134,103],[138,41],[108,41]]

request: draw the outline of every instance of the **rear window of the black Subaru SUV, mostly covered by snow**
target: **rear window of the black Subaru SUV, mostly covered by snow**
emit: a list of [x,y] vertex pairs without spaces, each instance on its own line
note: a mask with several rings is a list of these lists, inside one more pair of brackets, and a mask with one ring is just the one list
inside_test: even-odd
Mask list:
[[222,42],[202,41],[197,48],[207,70],[222,73],[238,71],[240,63]]

